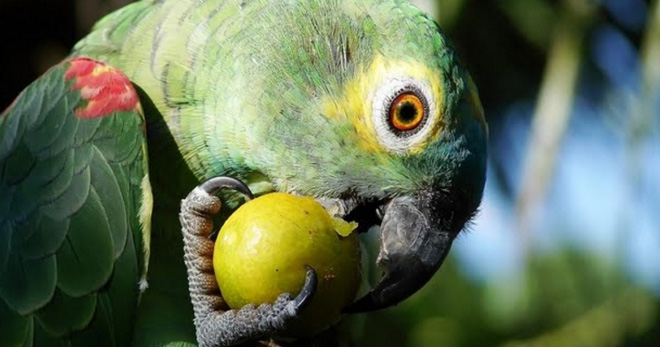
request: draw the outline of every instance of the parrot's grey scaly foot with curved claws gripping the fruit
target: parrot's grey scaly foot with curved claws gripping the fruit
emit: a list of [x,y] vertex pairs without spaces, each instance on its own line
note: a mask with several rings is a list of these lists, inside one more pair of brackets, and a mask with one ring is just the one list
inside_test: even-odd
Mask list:
[[281,332],[309,303],[317,286],[316,272],[308,266],[305,284],[297,297],[285,293],[272,304],[247,305],[240,310],[229,310],[215,280],[214,243],[209,239],[213,232],[212,218],[221,206],[215,194],[223,188],[237,190],[252,198],[250,190],[241,181],[216,177],[193,189],[181,202],[179,214],[190,299],[200,346],[232,346]]

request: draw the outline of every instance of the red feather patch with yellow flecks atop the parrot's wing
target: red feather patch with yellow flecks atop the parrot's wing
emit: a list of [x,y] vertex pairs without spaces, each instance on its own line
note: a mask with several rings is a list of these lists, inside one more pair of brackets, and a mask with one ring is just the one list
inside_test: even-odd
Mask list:
[[64,77],[75,81],[72,90],[79,90],[87,101],[76,110],[76,116],[105,117],[117,111],[142,113],[133,84],[119,70],[89,58],[76,58],[68,63]]

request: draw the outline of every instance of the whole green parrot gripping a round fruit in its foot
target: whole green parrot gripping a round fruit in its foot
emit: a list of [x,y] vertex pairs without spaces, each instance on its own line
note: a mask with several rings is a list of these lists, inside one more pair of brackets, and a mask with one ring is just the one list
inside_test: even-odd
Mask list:
[[222,187],[309,195],[380,225],[383,276],[345,311],[395,305],[474,216],[487,133],[451,44],[405,0],[132,3],[0,116],[0,344],[282,331],[315,273],[300,293],[229,310],[209,277]]

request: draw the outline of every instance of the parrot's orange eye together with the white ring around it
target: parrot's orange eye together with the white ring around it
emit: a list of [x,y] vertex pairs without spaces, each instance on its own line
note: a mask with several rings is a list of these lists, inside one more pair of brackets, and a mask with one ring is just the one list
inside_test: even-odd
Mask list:
[[424,140],[434,117],[431,89],[423,81],[392,78],[376,91],[372,120],[381,144],[393,152],[405,154]]

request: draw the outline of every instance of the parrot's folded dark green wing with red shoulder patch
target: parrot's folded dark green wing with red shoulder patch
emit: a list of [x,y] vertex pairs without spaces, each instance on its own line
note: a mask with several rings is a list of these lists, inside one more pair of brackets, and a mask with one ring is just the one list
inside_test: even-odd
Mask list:
[[3,345],[129,345],[150,194],[141,106],[118,70],[68,60],[18,96],[0,115]]

